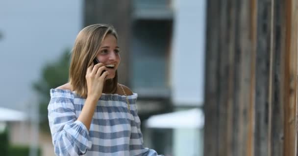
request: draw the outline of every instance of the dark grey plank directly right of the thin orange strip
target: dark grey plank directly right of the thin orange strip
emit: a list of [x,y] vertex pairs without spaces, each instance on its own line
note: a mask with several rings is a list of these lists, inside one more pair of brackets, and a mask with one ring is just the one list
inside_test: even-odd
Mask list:
[[257,49],[255,59],[254,156],[268,156],[268,86],[270,62],[271,1],[257,3]]

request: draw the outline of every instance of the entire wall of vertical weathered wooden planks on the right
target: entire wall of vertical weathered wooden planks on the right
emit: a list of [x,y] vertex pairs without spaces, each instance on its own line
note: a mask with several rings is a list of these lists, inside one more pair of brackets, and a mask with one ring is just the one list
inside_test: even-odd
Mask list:
[[207,7],[204,156],[298,156],[298,0]]

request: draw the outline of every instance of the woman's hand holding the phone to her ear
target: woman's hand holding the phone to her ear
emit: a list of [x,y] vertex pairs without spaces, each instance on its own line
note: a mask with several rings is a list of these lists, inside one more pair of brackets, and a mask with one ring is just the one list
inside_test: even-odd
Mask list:
[[[104,71],[102,73],[102,71]],[[100,74],[102,75],[100,76]],[[107,68],[102,64],[98,63],[94,65],[93,63],[87,68],[86,81],[87,81],[87,98],[93,98],[94,100],[99,100],[102,89],[104,85],[105,77],[109,74]]]

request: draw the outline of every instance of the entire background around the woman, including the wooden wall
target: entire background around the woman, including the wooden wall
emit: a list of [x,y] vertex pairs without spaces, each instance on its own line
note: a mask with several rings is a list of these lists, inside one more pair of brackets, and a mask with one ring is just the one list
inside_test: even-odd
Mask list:
[[119,82],[165,156],[298,156],[298,0],[0,0],[1,156],[53,156],[50,88],[114,25]]

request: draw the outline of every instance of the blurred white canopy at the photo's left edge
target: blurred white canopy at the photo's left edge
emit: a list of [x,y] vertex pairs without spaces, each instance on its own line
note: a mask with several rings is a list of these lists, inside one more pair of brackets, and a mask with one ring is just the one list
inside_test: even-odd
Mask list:
[[24,112],[0,107],[0,121],[24,121],[26,119]]

